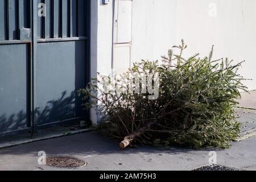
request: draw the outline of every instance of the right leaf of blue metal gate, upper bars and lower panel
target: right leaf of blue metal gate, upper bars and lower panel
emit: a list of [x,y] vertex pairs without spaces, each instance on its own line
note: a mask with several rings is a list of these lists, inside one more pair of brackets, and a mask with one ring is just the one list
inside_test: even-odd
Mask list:
[[[39,1],[39,0],[38,0]],[[54,0],[39,17],[36,60],[36,123],[49,125],[85,116],[77,90],[86,85],[88,1]]]

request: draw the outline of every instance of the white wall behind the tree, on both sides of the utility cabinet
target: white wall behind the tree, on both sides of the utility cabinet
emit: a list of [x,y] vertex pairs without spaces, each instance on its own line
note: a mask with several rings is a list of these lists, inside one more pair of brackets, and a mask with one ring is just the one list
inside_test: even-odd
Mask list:
[[[112,73],[114,0],[109,5],[91,1],[91,72],[96,77]],[[216,16],[209,15],[211,3]],[[133,0],[132,16],[131,63],[159,60],[181,39],[188,44],[187,56],[208,56],[214,44],[214,58],[246,60],[240,73],[253,78],[245,84],[256,89],[255,0]]]

